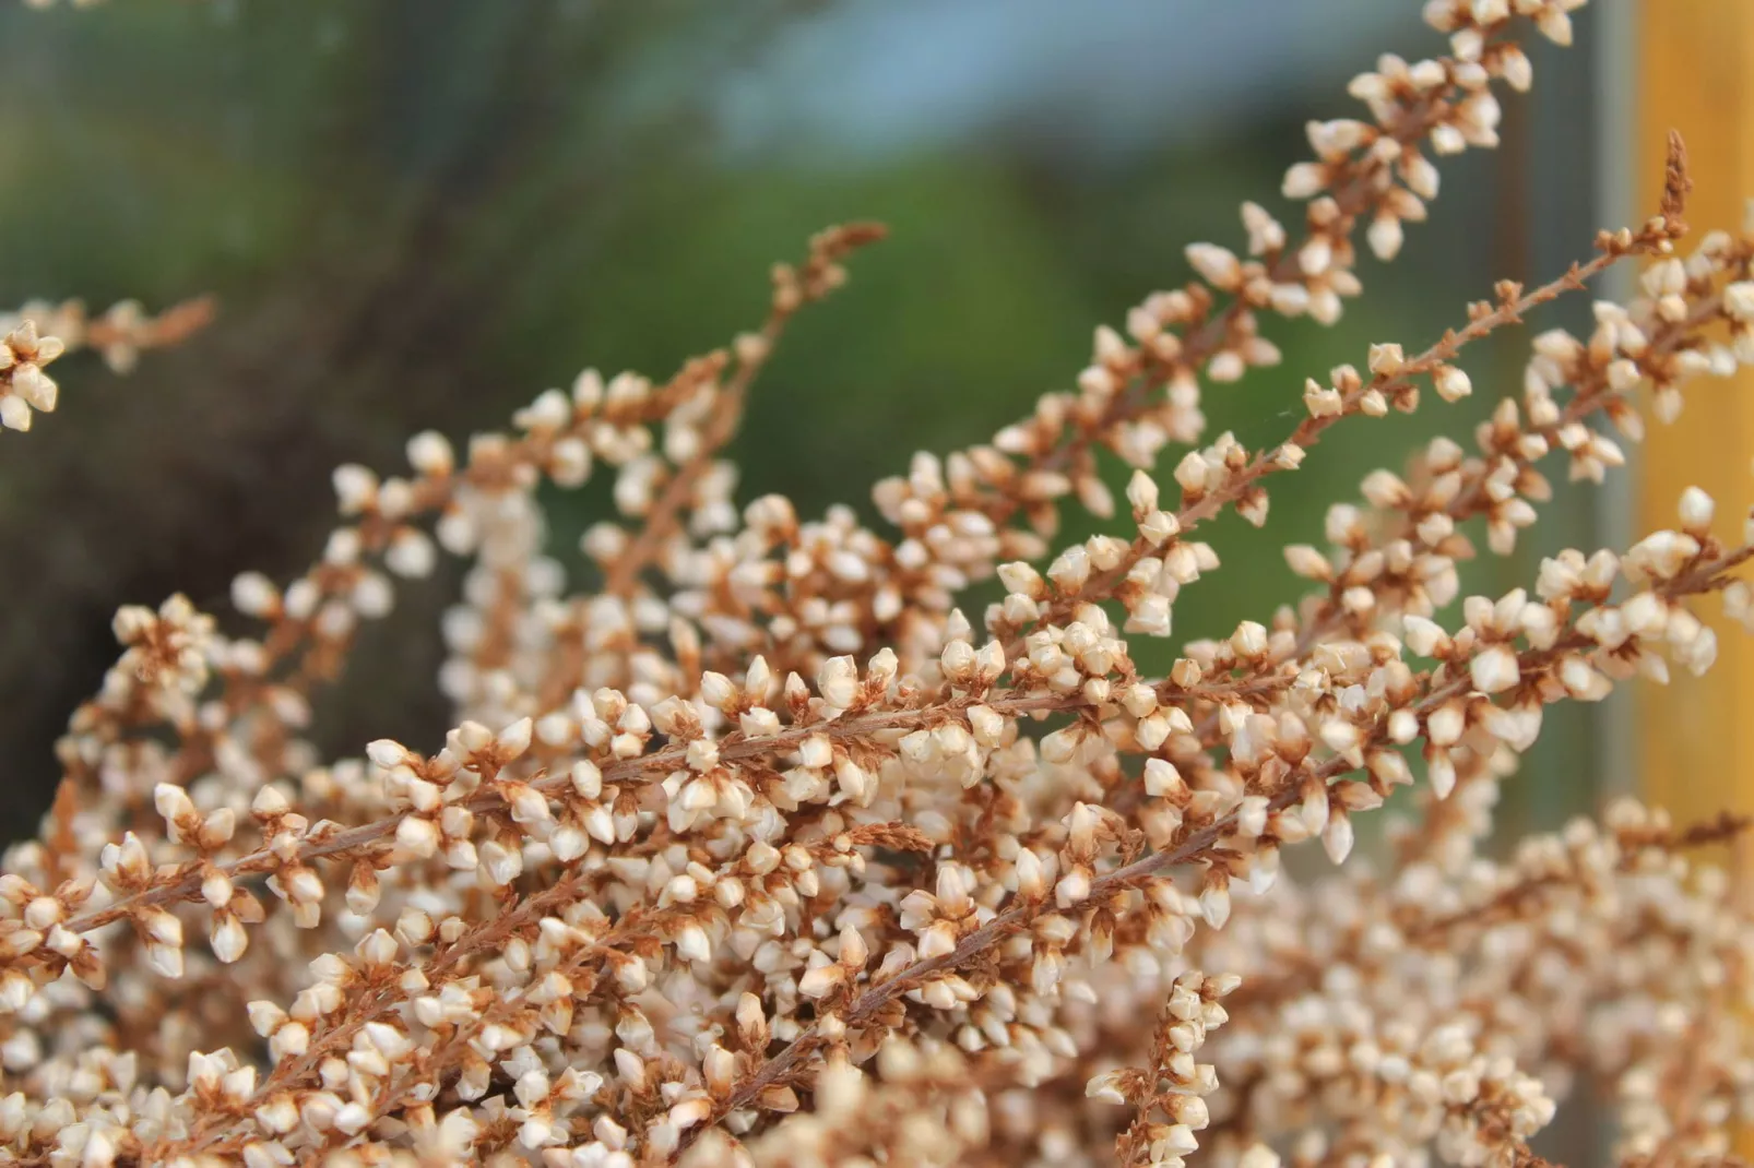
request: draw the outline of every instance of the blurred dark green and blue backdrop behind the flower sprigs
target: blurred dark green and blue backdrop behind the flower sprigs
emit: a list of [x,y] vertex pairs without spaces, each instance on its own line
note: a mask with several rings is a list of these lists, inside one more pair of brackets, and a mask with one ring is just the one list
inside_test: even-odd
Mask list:
[[[873,217],[891,240],[786,338],[731,452],[742,498],[870,514],[870,484],[905,451],[980,440],[1066,386],[1094,324],[1186,277],[1184,244],[1235,240],[1244,198],[1279,207],[1303,121],[1345,114],[1347,77],[1372,65],[1354,46],[1431,37],[1417,4],[1386,0],[0,11],[0,302],[221,303],[209,333],[128,379],[68,363],[68,407],[5,444],[5,837],[47,803],[53,740],[114,659],[114,607],[182,589],[225,612],[239,570],[289,575],[328,530],[333,465],[398,468],[405,435],[496,428],[586,365],[667,375],[756,323],[770,261]],[[1587,44],[1537,70],[1505,149],[1445,170],[1401,263],[1363,265],[1366,307],[1287,328],[1282,368],[1210,393],[1214,435],[1270,438],[1305,375],[1459,324],[1437,289],[1484,296],[1587,253],[1603,226]],[[1303,472],[1316,481],[1275,495],[1296,512],[1280,530],[1319,542],[1314,500],[1442,410],[1484,414],[1524,351],[1470,349],[1463,407],[1337,431]],[[589,491],[561,503],[556,544],[602,507]],[[1507,588],[1589,538],[1584,503],[1556,516],[1473,584]],[[1179,635],[1294,600],[1277,544],[1252,535],[1219,528],[1244,570],[1187,589]],[[442,733],[438,640],[402,633],[435,626],[447,589],[409,589],[367,633],[319,707],[326,747]],[[1572,717],[1528,763],[1542,782],[1510,787],[1524,819],[1589,798],[1591,735]]]

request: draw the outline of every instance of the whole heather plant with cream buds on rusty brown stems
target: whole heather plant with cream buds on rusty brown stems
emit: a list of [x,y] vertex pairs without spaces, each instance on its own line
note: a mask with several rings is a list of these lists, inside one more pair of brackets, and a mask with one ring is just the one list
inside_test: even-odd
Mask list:
[[[1566,42],[1579,4],[1428,4],[1451,54],[1384,56],[1365,118],[1310,125],[1301,228],[1245,203],[1245,242],[1189,247],[1198,279],[1100,328],[1075,389],[879,482],[882,530],[738,505],[721,458],[786,326],[882,233],[851,224],[668,381],[586,372],[461,452],[423,433],[407,474],[337,470],[321,559],[237,577],[253,630],[123,609],[0,877],[0,1163],[1524,1166],[1589,1093],[1622,1164],[1731,1163],[1754,915],[1694,852],[1745,824],[1621,803],[1486,845],[1547,705],[1708,668],[1714,596],[1754,626],[1754,517],[1724,542],[1687,491],[1673,528],[1503,596],[1456,565],[1515,545],[1552,463],[1601,481],[1645,412],[1754,361],[1754,230],[1686,239],[1677,140],[1651,219],[1303,381],[1279,442],[1209,438],[1200,409],[1277,363],[1279,317],[1340,316],[1358,237],[1394,256],[1435,156],[1493,146],[1498,89],[1529,86],[1517,39]],[[1296,609],[1140,673],[1130,640],[1219,572],[1203,528],[1266,523],[1330,428],[1466,396],[1466,344],[1617,263],[1638,296],[1538,333],[1466,444],[1286,544]],[[63,331],[177,333],[123,317]],[[46,409],[58,347],[18,324],[7,351]],[[600,468],[616,516],[570,593],[537,491]],[[1073,505],[1112,533],[1056,547]],[[440,552],[470,565],[456,728],[319,758],[314,689]],[[1408,824],[1352,859],[1403,786]],[[1333,875],[1282,873],[1316,842]]]

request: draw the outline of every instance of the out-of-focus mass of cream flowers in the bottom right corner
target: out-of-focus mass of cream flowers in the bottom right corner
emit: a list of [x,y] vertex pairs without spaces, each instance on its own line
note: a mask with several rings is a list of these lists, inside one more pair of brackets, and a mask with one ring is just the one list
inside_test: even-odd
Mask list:
[[[1480,782],[1451,801],[1489,814],[1507,768],[1477,758]],[[1526,1140],[1586,1075],[1621,1103],[1621,1159],[1728,1154],[1729,1121],[1754,1115],[1754,1035],[1728,1017],[1754,935],[1722,872],[1684,852],[1745,824],[1677,830],[1621,803],[1491,861],[1468,819],[1403,826],[1393,861],[1249,901],[1189,945],[1244,986],[1207,1052],[1247,1084],[1217,1096],[1228,1154],[1529,1164]]]

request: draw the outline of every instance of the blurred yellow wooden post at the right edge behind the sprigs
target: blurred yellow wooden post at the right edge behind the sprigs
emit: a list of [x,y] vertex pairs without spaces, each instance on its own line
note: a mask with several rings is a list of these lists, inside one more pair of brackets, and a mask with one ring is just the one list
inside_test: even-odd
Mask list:
[[[1705,230],[1742,224],[1754,196],[1754,0],[1640,0],[1636,14],[1636,186],[1640,214],[1658,203],[1663,142],[1687,140],[1694,195],[1687,221]],[[1605,84],[1621,84],[1607,77]],[[1754,375],[1687,388],[1679,423],[1651,424],[1636,488],[1635,528],[1675,524],[1689,486],[1717,500],[1719,535],[1740,540],[1754,502]],[[1694,679],[1677,670],[1666,687],[1638,693],[1638,763],[1645,798],[1677,821],[1722,808],[1754,810],[1754,642],[1724,628],[1717,666]],[[1738,849],[1738,870],[1754,852]]]

